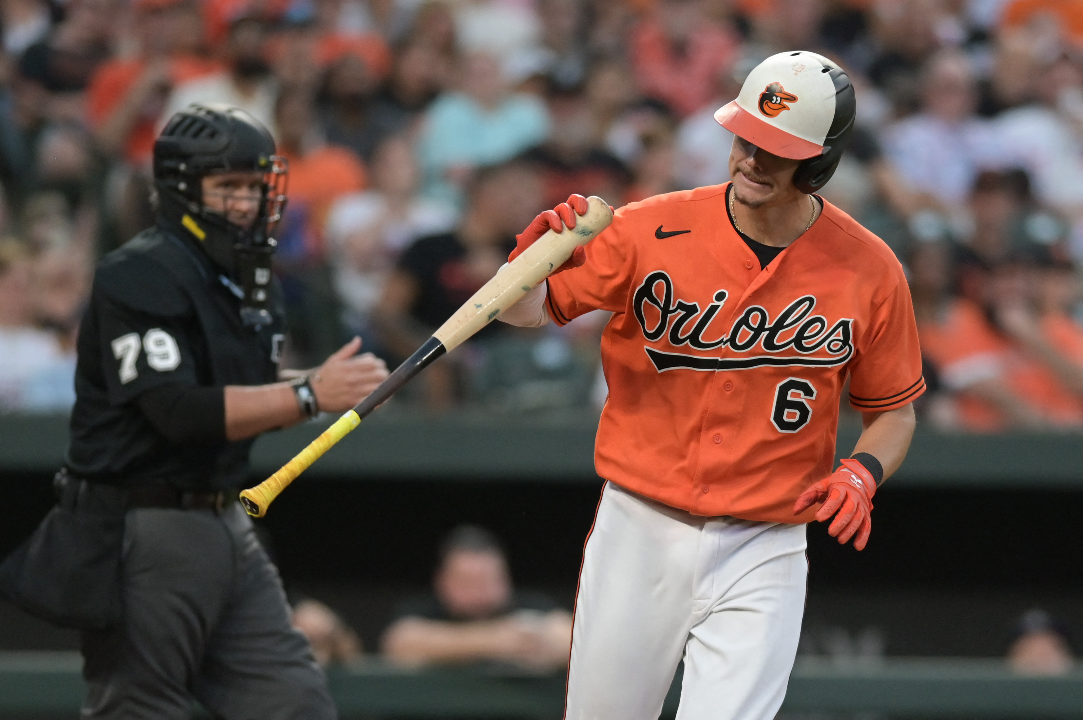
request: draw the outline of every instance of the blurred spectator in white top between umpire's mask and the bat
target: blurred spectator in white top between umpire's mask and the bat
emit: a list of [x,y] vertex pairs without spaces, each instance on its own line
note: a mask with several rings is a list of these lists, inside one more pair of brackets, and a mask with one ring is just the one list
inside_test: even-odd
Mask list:
[[349,325],[369,351],[378,352],[369,314],[395,260],[418,237],[451,231],[456,211],[417,196],[420,176],[405,135],[389,138],[377,147],[370,174],[370,191],[343,195],[331,206],[326,235],[335,289],[350,313]]

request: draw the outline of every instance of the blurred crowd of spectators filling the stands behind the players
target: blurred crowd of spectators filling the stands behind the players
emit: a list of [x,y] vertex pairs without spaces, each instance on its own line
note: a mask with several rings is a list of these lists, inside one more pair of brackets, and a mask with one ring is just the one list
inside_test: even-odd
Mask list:
[[[858,126],[828,201],[912,283],[961,431],[1083,430],[1083,3],[1073,0],[4,0],[0,410],[63,410],[93,263],[153,222],[154,138],[247,109],[289,159],[287,358],[353,335],[394,365],[570,193],[728,180],[713,119],[803,49]],[[604,316],[496,324],[401,402],[598,404]]]

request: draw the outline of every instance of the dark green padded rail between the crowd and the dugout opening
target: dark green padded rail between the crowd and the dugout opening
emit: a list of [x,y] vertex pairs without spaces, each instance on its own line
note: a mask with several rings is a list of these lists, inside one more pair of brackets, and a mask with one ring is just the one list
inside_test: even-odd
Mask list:
[[[277,470],[329,422],[269,433],[256,444],[258,474]],[[305,477],[595,481],[592,413],[376,414],[319,459]],[[849,453],[858,429],[844,426]],[[51,472],[67,442],[63,417],[0,416],[0,472]],[[950,435],[918,429],[898,485],[1083,487],[1083,435]]]

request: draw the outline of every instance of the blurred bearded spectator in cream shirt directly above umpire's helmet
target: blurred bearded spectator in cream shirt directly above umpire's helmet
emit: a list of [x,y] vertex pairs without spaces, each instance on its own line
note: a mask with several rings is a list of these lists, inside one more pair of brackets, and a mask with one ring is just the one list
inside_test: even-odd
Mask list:
[[223,49],[225,69],[178,83],[159,123],[192,103],[223,103],[246,110],[278,138],[274,113],[278,89],[271,74],[266,44],[268,27],[263,19],[242,15],[233,21]]

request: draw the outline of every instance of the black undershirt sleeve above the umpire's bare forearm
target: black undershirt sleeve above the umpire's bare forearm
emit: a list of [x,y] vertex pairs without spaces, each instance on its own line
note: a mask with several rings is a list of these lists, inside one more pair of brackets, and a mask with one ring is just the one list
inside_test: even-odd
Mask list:
[[140,394],[139,408],[172,445],[219,445],[225,438],[225,390],[170,383]]

